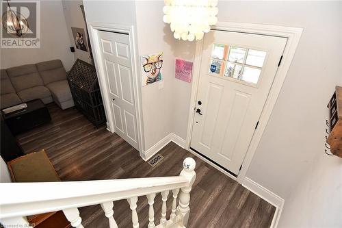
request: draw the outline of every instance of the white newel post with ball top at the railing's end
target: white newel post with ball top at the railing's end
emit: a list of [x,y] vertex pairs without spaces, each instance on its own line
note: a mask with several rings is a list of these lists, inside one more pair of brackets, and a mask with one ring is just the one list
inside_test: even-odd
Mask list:
[[186,177],[189,181],[187,187],[181,188],[179,193],[179,205],[176,210],[176,214],[181,214],[183,216],[183,226],[187,226],[187,221],[189,220],[190,213],[190,191],[192,190],[192,184],[196,179],[196,173],[194,171],[196,167],[196,162],[192,157],[185,158],[183,162],[183,170],[181,171],[180,176]]

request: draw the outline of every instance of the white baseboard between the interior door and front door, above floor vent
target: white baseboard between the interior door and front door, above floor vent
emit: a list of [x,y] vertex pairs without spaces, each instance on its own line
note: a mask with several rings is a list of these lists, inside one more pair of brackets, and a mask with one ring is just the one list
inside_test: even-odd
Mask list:
[[178,144],[179,147],[182,147],[182,148],[185,147],[185,140],[183,140],[183,138],[171,132],[170,134],[162,138],[159,142],[154,144],[153,147],[150,147],[150,149],[148,149],[147,151],[144,151],[142,153],[142,159],[146,162],[151,157],[153,157],[153,155],[158,153],[158,151],[163,149],[163,147],[165,147],[171,141]]

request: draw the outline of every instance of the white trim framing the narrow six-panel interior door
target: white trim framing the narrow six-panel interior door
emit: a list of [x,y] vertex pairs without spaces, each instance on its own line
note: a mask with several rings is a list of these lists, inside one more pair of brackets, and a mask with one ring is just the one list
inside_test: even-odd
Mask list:
[[123,24],[113,24],[113,23],[90,23],[88,25],[88,31],[90,36],[90,44],[92,45],[94,64],[96,67],[96,72],[98,74],[98,84],[101,88],[101,94],[103,97],[103,104],[105,106],[105,114],[107,118],[107,129],[108,131],[115,132],[114,128],[114,114],[111,110],[111,101],[109,99],[109,94],[104,91],[109,90],[109,85],[107,84],[107,79],[105,72],[103,72],[103,62],[101,61],[101,47],[98,40],[98,30],[102,31],[113,31],[122,34],[128,34],[129,45],[131,50],[131,66],[133,75],[133,91],[134,91],[134,101],[135,101],[135,116],[137,123],[137,138],[139,140],[139,153],[142,156],[144,148],[144,132],[143,121],[142,121],[142,96],[141,96],[141,79],[139,76],[139,71],[137,69],[137,42],[135,38],[135,30],[133,25],[123,25]]

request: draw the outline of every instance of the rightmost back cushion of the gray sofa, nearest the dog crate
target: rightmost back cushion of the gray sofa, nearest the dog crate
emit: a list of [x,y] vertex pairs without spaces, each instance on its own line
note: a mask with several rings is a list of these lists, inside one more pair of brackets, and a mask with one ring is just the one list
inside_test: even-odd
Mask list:
[[66,71],[61,60],[51,60],[36,64],[44,85],[66,79]]

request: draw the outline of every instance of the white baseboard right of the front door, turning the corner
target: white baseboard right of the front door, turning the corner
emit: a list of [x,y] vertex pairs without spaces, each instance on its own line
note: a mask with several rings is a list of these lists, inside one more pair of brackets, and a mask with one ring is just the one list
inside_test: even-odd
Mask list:
[[244,186],[254,194],[257,194],[257,196],[261,197],[262,199],[276,207],[276,212],[274,212],[271,224],[271,228],[276,228],[280,219],[282,207],[284,207],[284,199],[279,197],[277,194],[274,194],[273,192],[269,191],[267,188],[264,188],[263,186],[259,185],[259,183],[252,181],[248,177],[244,178],[244,181],[242,181],[242,186]]

